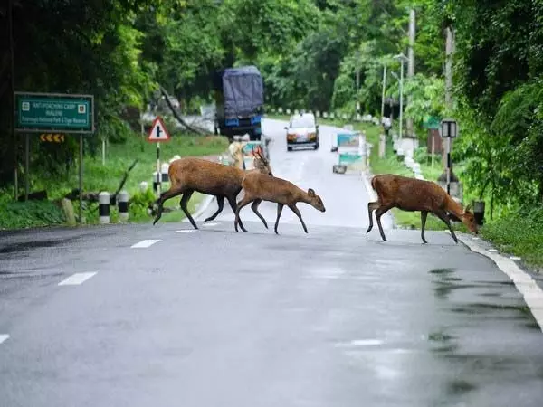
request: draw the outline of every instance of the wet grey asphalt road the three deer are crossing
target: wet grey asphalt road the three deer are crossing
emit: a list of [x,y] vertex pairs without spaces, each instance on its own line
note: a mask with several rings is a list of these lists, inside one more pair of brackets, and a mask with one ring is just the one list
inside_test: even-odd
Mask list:
[[199,231],[0,234],[0,404],[539,406],[543,334],[510,279],[444,232],[367,235],[322,130],[287,153],[264,123],[275,174],[327,206],[300,204],[309,234],[250,209],[236,233],[226,207]]

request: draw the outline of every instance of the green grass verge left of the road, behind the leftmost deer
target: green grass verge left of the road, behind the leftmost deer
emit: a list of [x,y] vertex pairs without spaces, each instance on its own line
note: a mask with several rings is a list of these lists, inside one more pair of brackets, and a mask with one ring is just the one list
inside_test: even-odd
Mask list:
[[[193,137],[175,134],[167,143],[160,145],[161,162],[167,162],[173,156],[207,156],[219,155],[228,147],[224,137],[206,136]],[[102,165],[101,154],[96,157],[85,156],[83,160],[83,190],[85,192],[108,191],[113,194],[119,187],[120,180],[125,171],[137,158],[138,164],[130,171],[124,189],[129,192],[129,222],[150,222],[147,213],[148,204],[156,196],[152,191],[152,175],[157,168],[156,145],[148,143],[145,137],[134,134],[124,144],[110,144],[107,147],[106,163]],[[32,171],[32,164],[31,164]],[[148,182],[148,190],[141,192],[139,184]],[[62,198],[72,189],[78,188],[78,167],[71,167],[69,174],[54,176],[36,176],[31,179],[31,191],[46,190],[48,198],[52,201]],[[162,185],[166,190],[168,184]],[[204,197],[203,194],[193,194],[189,202],[189,211],[194,213],[195,207]],[[15,229],[20,227],[45,226],[48,224],[62,224],[64,216],[60,208],[53,202],[27,202],[13,203],[13,189],[0,192],[0,229]],[[172,199],[165,207],[178,208],[178,199]],[[73,202],[76,216],[79,210],[79,201]],[[98,204],[89,204],[84,207],[83,217],[88,224],[98,223]],[[59,216],[59,213],[62,216]],[[179,222],[185,217],[181,211],[164,213],[160,222]],[[116,207],[110,206],[111,222],[119,221]]]

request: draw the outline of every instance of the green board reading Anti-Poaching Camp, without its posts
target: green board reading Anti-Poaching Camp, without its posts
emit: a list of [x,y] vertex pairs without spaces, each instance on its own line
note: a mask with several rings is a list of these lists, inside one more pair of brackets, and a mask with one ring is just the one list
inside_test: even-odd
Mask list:
[[14,92],[15,130],[94,133],[94,97],[61,93]]

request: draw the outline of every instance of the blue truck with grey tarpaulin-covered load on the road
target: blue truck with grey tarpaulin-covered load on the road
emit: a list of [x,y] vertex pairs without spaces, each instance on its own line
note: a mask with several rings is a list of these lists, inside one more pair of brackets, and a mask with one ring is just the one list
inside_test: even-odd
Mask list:
[[214,133],[228,137],[249,134],[252,141],[262,136],[264,85],[260,71],[253,66],[226,68],[214,74],[216,106]]

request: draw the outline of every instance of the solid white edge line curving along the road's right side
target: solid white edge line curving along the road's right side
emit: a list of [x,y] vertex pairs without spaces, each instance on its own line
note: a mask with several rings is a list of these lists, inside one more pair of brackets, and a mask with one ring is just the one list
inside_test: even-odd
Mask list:
[[538,283],[534,281],[528,273],[521,270],[513,260],[501,256],[500,254],[485,251],[479,247],[479,245],[465,239],[463,236],[460,237],[460,240],[472,251],[493,260],[498,268],[507,274],[515,284],[515,287],[519,290],[520,294],[522,294],[526,305],[528,305],[532,315],[538,321],[539,328],[543,331],[543,289],[538,286]]

